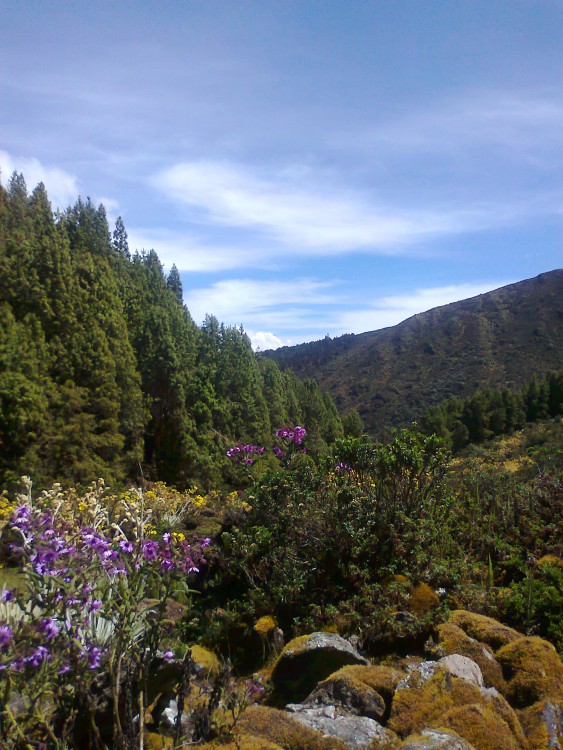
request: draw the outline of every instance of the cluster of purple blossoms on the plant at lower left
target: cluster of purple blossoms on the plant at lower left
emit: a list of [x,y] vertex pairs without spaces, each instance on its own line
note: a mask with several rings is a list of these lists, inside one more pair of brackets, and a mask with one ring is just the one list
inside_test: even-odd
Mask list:
[[[130,541],[123,539],[119,527],[107,534],[92,527],[75,529],[51,512],[27,505],[16,509],[11,525],[21,537],[12,551],[29,575],[33,605],[41,614],[22,620],[14,631],[0,622],[0,671],[35,670],[48,662],[58,674],[70,671],[71,665],[98,669],[103,652],[88,633],[92,614],[104,609],[104,590],[112,588],[113,598],[106,605],[115,612],[127,603],[123,596],[144,586],[147,576],[161,580],[172,571],[181,576],[199,572],[205,564],[203,550],[210,544],[205,539],[192,545],[170,533],[159,540]],[[127,585],[114,586],[116,578],[127,578]],[[19,600],[11,590],[0,598]],[[24,600],[18,603],[26,606]]]

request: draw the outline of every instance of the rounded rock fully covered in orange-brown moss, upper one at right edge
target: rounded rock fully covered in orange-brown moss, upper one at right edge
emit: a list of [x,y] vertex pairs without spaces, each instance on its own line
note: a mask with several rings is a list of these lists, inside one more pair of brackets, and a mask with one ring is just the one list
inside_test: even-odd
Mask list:
[[543,638],[520,637],[499,649],[496,658],[507,682],[506,697],[515,708],[563,697],[563,664]]

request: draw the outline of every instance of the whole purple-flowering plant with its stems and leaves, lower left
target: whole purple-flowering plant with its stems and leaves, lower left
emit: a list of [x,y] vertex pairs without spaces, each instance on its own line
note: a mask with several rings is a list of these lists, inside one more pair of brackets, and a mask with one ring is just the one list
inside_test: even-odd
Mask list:
[[[136,491],[138,504],[124,502],[123,516],[112,518],[101,481],[88,497],[89,525],[77,528],[57,506],[48,507],[49,493],[34,504],[31,481],[23,481],[27,493],[19,497],[11,527],[27,591],[1,594],[12,617],[0,621],[0,739],[21,740],[26,725],[41,741],[76,741],[80,716],[93,747],[103,748],[107,738],[98,720],[105,703],[114,744],[126,747],[133,704],[142,716],[143,688],[166,634],[167,599],[178,582],[189,593],[186,576],[205,564],[209,540],[190,544],[169,532],[148,539],[142,492]],[[152,604],[145,603],[148,596]],[[26,715],[17,719],[12,692],[28,699]]]

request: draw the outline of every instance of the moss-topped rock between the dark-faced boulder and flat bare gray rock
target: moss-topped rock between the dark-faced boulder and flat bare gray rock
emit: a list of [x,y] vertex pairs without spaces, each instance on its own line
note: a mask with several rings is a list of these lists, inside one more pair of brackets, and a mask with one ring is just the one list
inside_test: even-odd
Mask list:
[[349,665],[320,682],[305,702],[343,706],[351,713],[382,721],[403,677],[390,667]]

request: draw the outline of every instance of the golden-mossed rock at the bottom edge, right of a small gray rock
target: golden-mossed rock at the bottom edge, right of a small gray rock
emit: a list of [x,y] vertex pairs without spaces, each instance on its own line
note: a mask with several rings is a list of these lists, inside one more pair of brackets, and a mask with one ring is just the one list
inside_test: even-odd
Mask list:
[[475,750],[525,750],[517,741],[508,724],[492,706],[472,704],[448,711],[441,725],[463,737]]

